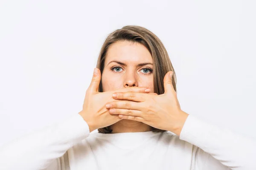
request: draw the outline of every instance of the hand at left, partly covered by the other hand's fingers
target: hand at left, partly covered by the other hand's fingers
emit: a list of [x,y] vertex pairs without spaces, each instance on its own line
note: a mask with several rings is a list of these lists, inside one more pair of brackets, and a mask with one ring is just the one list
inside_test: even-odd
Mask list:
[[[85,94],[83,110],[79,112],[84,121],[87,122],[90,132],[98,128],[107,127],[121,120],[118,115],[109,114],[108,109],[105,107],[107,102],[116,101],[116,99],[112,98],[114,92],[130,91],[132,93],[148,93],[150,91],[147,87],[131,87],[100,93],[98,92],[100,79],[100,70],[95,68],[90,86]],[[148,90],[145,91],[145,89]]]

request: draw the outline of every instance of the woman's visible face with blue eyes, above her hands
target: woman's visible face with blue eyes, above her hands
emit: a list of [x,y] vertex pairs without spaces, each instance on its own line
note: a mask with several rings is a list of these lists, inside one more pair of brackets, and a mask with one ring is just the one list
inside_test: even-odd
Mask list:
[[137,42],[113,43],[105,58],[102,89],[148,87],[154,93],[153,60],[148,49]]

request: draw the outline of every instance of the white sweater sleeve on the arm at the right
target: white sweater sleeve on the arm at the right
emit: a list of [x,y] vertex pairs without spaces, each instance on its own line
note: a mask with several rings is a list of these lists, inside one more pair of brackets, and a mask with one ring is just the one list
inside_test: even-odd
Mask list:
[[[201,168],[207,170],[256,170],[256,141],[204,122],[189,114],[180,139],[201,149]],[[221,167],[221,164],[226,167]]]

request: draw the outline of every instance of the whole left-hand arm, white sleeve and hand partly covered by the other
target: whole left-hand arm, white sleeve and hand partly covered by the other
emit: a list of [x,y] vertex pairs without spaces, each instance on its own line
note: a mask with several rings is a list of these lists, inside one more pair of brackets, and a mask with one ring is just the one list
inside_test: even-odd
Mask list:
[[[101,127],[107,127],[121,120],[109,114],[107,102],[114,100],[113,92],[131,91],[148,93],[146,87],[131,87],[116,91],[99,91],[101,73],[95,68],[90,86],[86,91],[83,110],[69,119],[23,136],[0,148],[0,169],[2,170],[64,170],[67,167],[66,151]],[[47,168],[47,169],[46,169]]]

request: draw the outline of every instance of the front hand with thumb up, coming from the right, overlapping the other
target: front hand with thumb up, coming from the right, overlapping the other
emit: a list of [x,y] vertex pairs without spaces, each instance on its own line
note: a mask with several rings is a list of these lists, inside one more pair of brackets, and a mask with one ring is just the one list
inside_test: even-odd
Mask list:
[[157,129],[169,130],[179,136],[189,114],[180,109],[177,93],[172,86],[172,71],[166,73],[163,82],[164,94],[114,93],[113,98],[119,100],[108,102],[106,108],[111,115],[143,122]]

